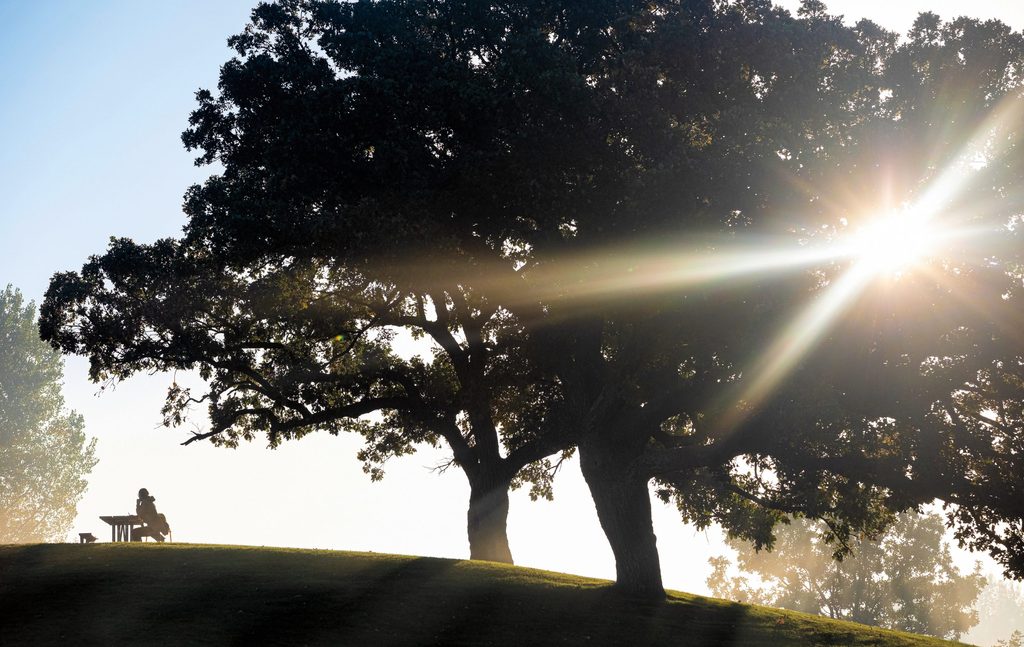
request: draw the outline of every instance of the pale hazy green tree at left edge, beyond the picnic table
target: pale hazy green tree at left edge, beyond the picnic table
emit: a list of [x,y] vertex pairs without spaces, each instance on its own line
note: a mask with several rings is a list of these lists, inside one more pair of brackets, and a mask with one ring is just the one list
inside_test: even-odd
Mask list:
[[63,360],[39,339],[35,304],[0,292],[0,544],[63,541],[96,464],[63,406]]

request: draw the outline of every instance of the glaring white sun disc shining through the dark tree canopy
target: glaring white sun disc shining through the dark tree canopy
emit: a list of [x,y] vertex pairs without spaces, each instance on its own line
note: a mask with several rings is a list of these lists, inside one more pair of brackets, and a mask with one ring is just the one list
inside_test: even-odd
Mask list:
[[850,252],[869,273],[898,276],[923,261],[935,242],[935,225],[928,218],[892,213],[856,231]]

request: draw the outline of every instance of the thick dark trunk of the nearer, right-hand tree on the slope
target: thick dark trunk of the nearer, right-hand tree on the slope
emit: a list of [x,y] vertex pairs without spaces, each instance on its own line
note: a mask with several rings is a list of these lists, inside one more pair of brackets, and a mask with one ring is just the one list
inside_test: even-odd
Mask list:
[[615,556],[615,587],[634,598],[665,598],[647,481],[631,469],[629,451],[580,445],[580,467]]

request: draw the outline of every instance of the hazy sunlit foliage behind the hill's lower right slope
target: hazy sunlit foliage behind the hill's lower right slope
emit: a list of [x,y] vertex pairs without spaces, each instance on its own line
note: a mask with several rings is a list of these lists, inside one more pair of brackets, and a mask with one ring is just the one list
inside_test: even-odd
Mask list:
[[941,516],[901,514],[878,538],[855,541],[842,561],[822,530],[820,522],[794,519],[776,531],[770,552],[727,540],[739,574],[730,576],[728,557],[713,557],[708,587],[721,598],[950,640],[977,623],[985,579],[953,565]]

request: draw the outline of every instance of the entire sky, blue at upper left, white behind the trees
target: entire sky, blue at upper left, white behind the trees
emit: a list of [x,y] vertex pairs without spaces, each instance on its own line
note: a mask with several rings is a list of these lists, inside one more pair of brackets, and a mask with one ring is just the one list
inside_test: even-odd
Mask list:
[[[251,0],[0,0],[0,287],[41,300],[54,271],[78,269],[112,235],[152,242],[183,224],[181,196],[209,171],[180,142],[200,87],[213,87]],[[796,7],[797,1],[782,2]],[[921,10],[997,16],[1024,27],[1018,0],[834,0],[848,19],[905,31]],[[188,376],[179,376],[188,379]],[[97,395],[70,358],[66,396],[97,437],[99,465],[73,532],[108,536],[98,515],[133,511],[147,487],[176,541],[467,557],[462,473],[431,474],[443,451],[394,462],[371,484],[355,438],[312,434],[269,451],[181,447],[184,430],[159,427],[167,375]],[[197,420],[202,424],[202,420]],[[611,577],[611,552],[575,463],[554,503],[513,495],[516,562]],[[665,580],[703,592],[717,531],[697,532],[654,504]]]

